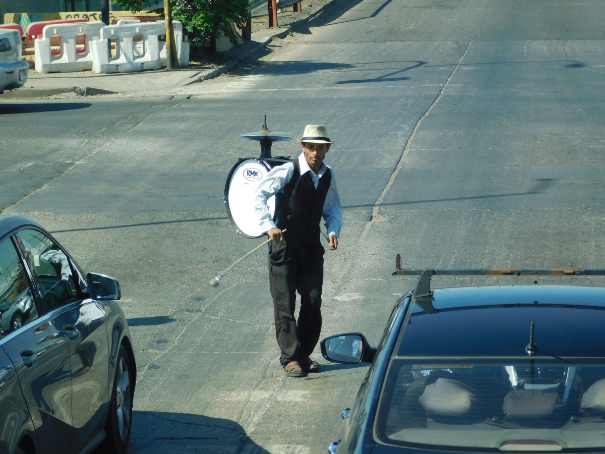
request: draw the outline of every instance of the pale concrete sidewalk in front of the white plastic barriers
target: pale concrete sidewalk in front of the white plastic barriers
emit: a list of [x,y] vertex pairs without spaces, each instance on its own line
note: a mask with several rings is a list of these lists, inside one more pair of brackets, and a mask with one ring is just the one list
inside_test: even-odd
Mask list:
[[252,19],[252,41],[234,47],[226,53],[217,54],[214,63],[203,62],[197,66],[174,70],[142,71],[140,73],[95,74],[93,71],[75,73],[39,74],[32,68],[22,88],[5,91],[1,100],[31,97],[79,97],[103,94],[125,94],[133,96],[159,94],[160,91],[212,79],[226,73],[241,60],[249,58],[266,47],[273,38],[285,38],[309,18],[321,12],[330,0],[306,0],[302,12],[283,11],[278,15],[280,27],[268,28],[267,16]]

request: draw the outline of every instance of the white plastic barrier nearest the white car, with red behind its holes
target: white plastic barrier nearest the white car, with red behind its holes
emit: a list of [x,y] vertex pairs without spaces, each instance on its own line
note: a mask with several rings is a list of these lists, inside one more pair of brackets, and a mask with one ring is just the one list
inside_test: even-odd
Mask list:
[[91,70],[92,44],[99,39],[103,27],[103,22],[46,25],[42,38],[34,42],[36,71],[66,73]]

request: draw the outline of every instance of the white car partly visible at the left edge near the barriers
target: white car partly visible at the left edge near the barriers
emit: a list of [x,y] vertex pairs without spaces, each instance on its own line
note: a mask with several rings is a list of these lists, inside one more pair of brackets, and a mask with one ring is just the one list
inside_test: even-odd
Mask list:
[[23,45],[17,30],[0,28],[0,94],[23,87],[29,75],[29,64],[23,59]]

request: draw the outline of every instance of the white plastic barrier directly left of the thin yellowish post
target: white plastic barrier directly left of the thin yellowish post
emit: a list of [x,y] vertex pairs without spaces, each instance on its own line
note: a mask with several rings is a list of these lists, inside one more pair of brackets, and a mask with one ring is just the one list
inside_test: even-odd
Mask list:
[[101,29],[99,41],[93,48],[93,72],[134,73],[159,70],[159,36],[164,34],[160,22],[140,22],[125,25],[107,25]]

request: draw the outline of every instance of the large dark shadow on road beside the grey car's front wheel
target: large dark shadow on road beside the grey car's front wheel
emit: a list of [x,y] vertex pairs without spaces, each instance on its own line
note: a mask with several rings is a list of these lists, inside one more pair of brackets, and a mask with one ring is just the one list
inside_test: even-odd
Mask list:
[[[229,419],[190,413],[132,412],[130,453],[246,452],[269,454]],[[93,454],[102,454],[95,450]]]

